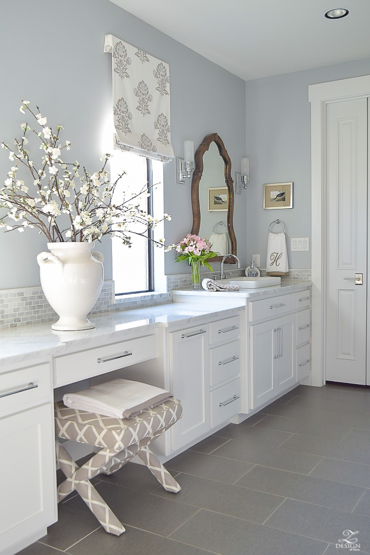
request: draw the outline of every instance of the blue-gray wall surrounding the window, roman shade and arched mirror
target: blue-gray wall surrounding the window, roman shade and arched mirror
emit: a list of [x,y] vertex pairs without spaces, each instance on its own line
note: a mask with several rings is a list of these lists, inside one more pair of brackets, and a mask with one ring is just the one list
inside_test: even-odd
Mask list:
[[[219,133],[234,169],[245,156],[245,82],[199,56],[108,0],[4,0],[0,8],[0,141],[19,137],[22,99],[38,104],[48,123],[63,124],[72,141],[71,160],[90,171],[101,166],[102,135],[111,110],[111,57],[104,54],[104,36],[112,33],[170,64],[171,139],[175,155],[183,156],[185,139],[195,147],[208,133]],[[67,160],[66,157],[64,157]],[[11,163],[0,150],[0,176]],[[190,180],[176,183],[175,162],[164,168],[167,243],[188,233],[192,225]],[[235,206],[235,232],[246,238],[245,200]],[[36,231],[0,231],[0,289],[39,284],[36,255],[46,249]],[[96,246],[96,245],[95,245]],[[111,279],[110,241],[98,245]],[[245,249],[240,255],[246,264]],[[187,270],[165,255],[165,273]],[[215,265],[219,266],[218,265]]]

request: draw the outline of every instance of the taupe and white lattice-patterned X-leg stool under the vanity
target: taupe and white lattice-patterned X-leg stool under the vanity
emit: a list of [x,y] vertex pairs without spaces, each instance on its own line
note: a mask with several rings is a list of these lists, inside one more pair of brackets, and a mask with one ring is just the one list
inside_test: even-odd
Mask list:
[[[119,536],[125,531],[124,526],[90,480],[100,473],[111,474],[119,470],[135,455],[141,458],[165,490],[179,492],[181,487],[178,482],[148,445],[179,420],[182,412],[181,403],[175,398],[123,420],[68,408],[62,401],[55,403],[57,462],[67,478],[58,487],[58,503],[76,490],[105,531]],[[101,450],[79,468],[58,438],[88,443],[101,447]]]

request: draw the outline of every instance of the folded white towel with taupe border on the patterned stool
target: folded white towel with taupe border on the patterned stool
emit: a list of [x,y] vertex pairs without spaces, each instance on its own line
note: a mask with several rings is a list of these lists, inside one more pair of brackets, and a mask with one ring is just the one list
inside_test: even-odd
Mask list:
[[95,412],[112,418],[131,418],[145,408],[155,407],[173,397],[160,387],[118,378],[77,393],[63,395],[69,408]]

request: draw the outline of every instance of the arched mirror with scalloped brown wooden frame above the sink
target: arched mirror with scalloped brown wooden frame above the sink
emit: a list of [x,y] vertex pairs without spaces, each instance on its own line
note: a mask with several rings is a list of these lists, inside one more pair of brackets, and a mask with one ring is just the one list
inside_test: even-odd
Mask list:
[[[195,170],[191,181],[191,233],[214,239],[212,249],[220,256],[236,255],[236,238],[232,225],[234,214],[234,181],[231,160],[217,133],[206,135],[195,153]],[[211,240],[212,243],[212,240]],[[227,258],[235,264],[234,258]]]

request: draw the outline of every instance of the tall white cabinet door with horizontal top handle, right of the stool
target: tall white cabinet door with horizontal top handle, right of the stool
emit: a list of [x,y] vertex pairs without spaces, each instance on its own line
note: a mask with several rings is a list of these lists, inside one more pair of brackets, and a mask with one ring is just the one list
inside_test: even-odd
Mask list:
[[175,451],[210,429],[208,329],[201,326],[169,335],[173,393],[183,405],[183,417],[171,427]]

